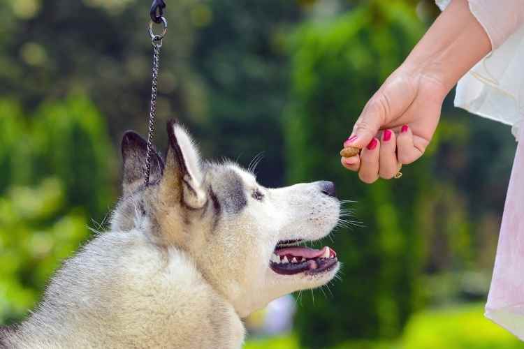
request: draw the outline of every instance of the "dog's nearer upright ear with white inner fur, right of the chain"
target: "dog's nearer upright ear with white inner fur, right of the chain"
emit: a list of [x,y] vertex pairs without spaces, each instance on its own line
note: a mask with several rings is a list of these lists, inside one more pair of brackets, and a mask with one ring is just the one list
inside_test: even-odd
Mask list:
[[189,133],[176,123],[168,122],[169,149],[166,168],[160,184],[161,200],[173,206],[183,203],[201,209],[208,197],[203,189],[201,158]]

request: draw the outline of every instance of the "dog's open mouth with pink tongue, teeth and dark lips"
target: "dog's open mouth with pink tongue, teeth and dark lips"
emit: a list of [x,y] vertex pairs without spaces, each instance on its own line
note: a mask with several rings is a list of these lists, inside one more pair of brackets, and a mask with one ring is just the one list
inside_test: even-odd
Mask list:
[[270,267],[275,273],[283,275],[302,272],[319,274],[333,269],[338,264],[337,253],[328,246],[317,250],[304,246],[293,246],[296,243],[298,241],[277,244],[270,262]]

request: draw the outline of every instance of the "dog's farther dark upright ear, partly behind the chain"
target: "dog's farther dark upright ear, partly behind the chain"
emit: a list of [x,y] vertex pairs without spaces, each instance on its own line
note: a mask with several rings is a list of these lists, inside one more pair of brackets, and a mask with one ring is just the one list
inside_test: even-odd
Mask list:
[[[124,195],[133,193],[145,183],[145,155],[147,142],[133,131],[127,131],[122,138],[122,158],[124,159],[124,176],[122,188]],[[152,149],[150,183],[159,181],[162,177],[163,161]]]

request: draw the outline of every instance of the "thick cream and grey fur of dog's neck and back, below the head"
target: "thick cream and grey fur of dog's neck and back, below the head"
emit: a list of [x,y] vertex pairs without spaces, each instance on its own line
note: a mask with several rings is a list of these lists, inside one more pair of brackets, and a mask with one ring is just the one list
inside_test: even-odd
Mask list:
[[[137,230],[96,237],[54,276],[8,348],[240,348],[231,304],[175,249]],[[0,338],[0,347],[1,347]]]

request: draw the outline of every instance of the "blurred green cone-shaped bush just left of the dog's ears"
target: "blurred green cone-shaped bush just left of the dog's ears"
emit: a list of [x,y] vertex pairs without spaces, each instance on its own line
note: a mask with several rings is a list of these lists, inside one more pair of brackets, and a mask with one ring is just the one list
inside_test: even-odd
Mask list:
[[67,206],[84,207],[97,221],[103,218],[115,196],[111,187],[119,165],[96,107],[81,96],[44,103],[36,111],[33,129],[38,130],[33,134],[34,176],[59,177]]

